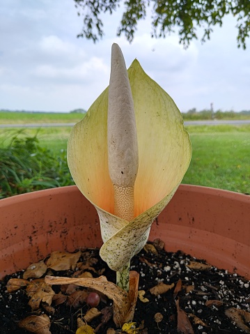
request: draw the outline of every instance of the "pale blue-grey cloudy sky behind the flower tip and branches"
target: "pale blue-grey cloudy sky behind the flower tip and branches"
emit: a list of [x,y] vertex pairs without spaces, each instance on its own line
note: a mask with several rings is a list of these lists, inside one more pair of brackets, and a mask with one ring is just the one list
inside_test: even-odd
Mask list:
[[77,38],[82,18],[73,0],[6,0],[0,3],[0,109],[69,112],[88,109],[109,84],[112,43],[127,67],[134,58],[175,100],[182,112],[196,107],[250,109],[250,40],[237,48],[235,19],[224,19],[210,41],[187,50],[177,34],[150,38],[150,21],[132,44],[117,38],[120,20],[104,16],[99,43]]

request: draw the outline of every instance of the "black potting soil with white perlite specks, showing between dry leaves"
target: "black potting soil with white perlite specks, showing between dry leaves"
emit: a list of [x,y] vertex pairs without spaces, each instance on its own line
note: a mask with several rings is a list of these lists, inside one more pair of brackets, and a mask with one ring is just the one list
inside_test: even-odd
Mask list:
[[[143,249],[131,261],[131,269],[140,274],[139,290],[146,291],[143,297],[149,300],[147,303],[143,303],[139,299],[137,301],[134,321],[136,327],[141,326],[143,329],[134,333],[250,333],[249,281],[236,273],[230,274],[214,266],[198,269],[189,268],[187,265],[191,264],[192,267],[195,267],[195,264],[205,264],[205,261],[195,259],[180,251],[176,253],[165,252],[159,249],[159,244],[156,245],[156,248],[156,255]],[[92,271],[93,277],[97,277],[97,271],[101,273],[103,269],[102,275],[105,275],[109,281],[115,282],[115,273],[107,268],[107,265],[100,259],[98,250],[83,250],[79,261],[84,263],[86,258],[98,261],[91,262],[91,267],[95,270],[91,270],[91,268],[84,270]],[[49,275],[71,277],[75,275],[77,270],[77,266],[74,271],[56,272],[49,269]],[[38,310],[31,312],[25,287],[11,293],[6,290],[8,280],[22,278],[22,274],[23,272],[19,272],[6,276],[0,282],[1,334],[28,334],[30,332],[19,328],[19,321],[31,314],[44,313],[51,320],[50,331],[52,334],[76,333],[77,317],[83,317],[89,306],[86,303],[81,303],[77,308],[74,308],[72,305],[67,305],[66,302],[55,306],[52,302],[52,309],[46,310],[46,305],[41,303]],[[174,286],[166,293],[154,296],[149,289],[159,282],[173,283]],[[53,289],[58,293],[60,286],[55,285]],[[179,309],[177,308],[178,303]],[[96,333],[107,333],[108,328],[117,329],[112,318],[107,321],[107,314],[111,314],[112,311],[111,305],[110,300],[102,298],[97,306],[99,310],[102,310],[104,316],[97,317],[89,323],[93,328],[99,326]],[[228,309],[244,310],[243,314],[237,319],[235,318],[235,321],[238,321],[237,324],[226,316],[225,312]],[[155,320],[157,313],[162,314],[162,317],[159,318],[162,318],[161,321]],[[184,316],[184,320],[180,316]],[[185,323],[186,316],[188,324]],[[106,319],[104,319],[105,317]],[[124,332],[116,331],[116,333]]]

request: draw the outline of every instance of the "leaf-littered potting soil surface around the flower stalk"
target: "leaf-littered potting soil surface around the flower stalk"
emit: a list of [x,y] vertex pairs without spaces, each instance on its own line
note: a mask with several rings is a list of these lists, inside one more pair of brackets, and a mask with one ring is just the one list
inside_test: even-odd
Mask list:
[[[112,301],[99,294],[100,303],[95,307],[99,313],[88,321],[91,331],[82,333],[250,333],[249,281],[180,251],[165,252],[162,247],[159,240],[153,247],[147,244],[131,261],[131,270],[140,274],[142,291],[134,314],[137,329],[117,329],[112,320]],[[72,334],[77,331],[77,319],[78,326],[86,324],[84,315],[95,305],[95,301],[91,301],[91,306],[87,303],[90,289],[53,285],[50,290],[42,278],[105,275],[115,282],[116,276],[100,259],[98,250],[75,254],[74,259],[66,261],[67,270],[58,270],[63,268],[61,263],[54,264],[52,257],[47,257],[39,263],[39,273],[34,264],[31,274],[22,271],[0,282],[1,334],[31,333],[32,328],[23,329],[27,323],[35,326],[33,333]],[[64,260],[62,255],[61,261]],[[33,272],[40,278],[29,278]],[[37,295],[38,290],[34,291],[38,286],[41,296]],[[31,315],[35,317],[29,318]]]

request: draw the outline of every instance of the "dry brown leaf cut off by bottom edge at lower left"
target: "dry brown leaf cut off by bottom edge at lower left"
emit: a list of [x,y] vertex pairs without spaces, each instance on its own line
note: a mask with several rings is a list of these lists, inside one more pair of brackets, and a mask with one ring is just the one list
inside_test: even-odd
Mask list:
[[31,315],[19,321],[18,326],[36,334],[52,334],[49,331],[50,320],[46,314]]

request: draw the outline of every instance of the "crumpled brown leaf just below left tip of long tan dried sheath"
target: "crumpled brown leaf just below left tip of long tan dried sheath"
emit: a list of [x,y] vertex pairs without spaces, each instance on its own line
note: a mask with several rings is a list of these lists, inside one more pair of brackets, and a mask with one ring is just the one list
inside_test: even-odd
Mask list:
[[28,287],[26,287],[26,294],[31,298],[29,301],[31,310],[38,310],[41,301],[51,305],[55,293],[52,287],[42,282],[29,284]]

